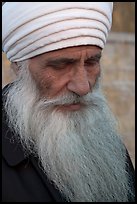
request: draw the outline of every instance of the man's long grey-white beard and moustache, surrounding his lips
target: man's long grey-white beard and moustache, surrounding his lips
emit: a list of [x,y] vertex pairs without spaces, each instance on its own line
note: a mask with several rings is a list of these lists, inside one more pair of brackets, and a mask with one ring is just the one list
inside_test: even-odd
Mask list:
[[[98,84],[92,93],[39,100],[27,67],[9,89],[9,126],[26,151],[38,155],[43,171],[71,202],[126,202],[129,190],[125,148]],[[62,113],[58,104],[78,102],[81,111]]]

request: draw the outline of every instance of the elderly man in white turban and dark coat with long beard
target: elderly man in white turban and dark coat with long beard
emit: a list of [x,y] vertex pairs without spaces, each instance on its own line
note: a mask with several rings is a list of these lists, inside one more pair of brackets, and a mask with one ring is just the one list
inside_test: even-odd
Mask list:
[[100,87],[112,2],[7,2],[3,202],[131,202],[134,169]]

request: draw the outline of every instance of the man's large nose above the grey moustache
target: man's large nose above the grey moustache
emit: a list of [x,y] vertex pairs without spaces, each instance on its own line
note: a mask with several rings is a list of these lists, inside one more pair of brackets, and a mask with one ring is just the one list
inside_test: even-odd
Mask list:
[[74,92],[79,96],[86,95],[91,91],[89,77],[85,67],[80,67],[74,71],[67,84],[67,88],[69,91]]

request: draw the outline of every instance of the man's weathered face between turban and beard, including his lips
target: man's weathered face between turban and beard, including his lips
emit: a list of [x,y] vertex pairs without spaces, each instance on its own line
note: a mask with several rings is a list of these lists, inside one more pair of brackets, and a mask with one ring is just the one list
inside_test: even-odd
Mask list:
[[[70,92],[84,96],[92,91],[100,74],[101,48],[78,46],[36,56],[29,70],[40,97],[53,99]],[[61,110],[81,109],[81,103],[60,106]]]

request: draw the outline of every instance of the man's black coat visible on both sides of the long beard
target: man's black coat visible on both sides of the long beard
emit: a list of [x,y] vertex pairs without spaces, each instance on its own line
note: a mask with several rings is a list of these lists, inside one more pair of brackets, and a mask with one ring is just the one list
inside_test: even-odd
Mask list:
[[[66,202],[42,171],[37,157],[25,155],[7,125],[4,109],[2,116],[2,202]],[[127,171],[134,191],[134,168],[128,152]],[[132,201],[129,196],[129,202]]]

